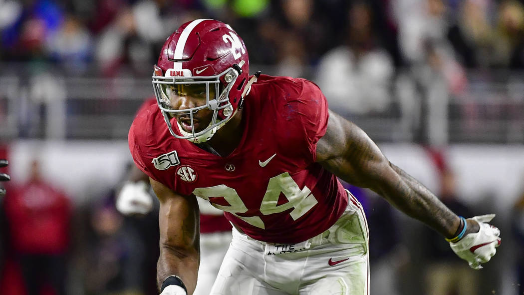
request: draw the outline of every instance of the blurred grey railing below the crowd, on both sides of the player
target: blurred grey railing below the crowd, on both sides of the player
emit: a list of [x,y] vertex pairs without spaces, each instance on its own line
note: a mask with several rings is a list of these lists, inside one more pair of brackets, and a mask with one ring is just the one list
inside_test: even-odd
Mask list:
[[[405,85],[392,81],[391,100],[383,111],[335,111],[379,142],[522,144],[523,77],[508,74],[494,82],[475,76],[467,91],[456,96],[435,96],[431,86],[419,86],[406,97],[408,92],[400,89]],[[1,71],[0,139],[125,139],[138,106],[151,95],[148,74],[93,78]]]

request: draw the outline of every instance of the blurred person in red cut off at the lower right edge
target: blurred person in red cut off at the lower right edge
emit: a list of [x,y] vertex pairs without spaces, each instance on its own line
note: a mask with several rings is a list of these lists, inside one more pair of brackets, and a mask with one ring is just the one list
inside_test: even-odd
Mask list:
[[517,274],[516,285],[518,286],[517,294],[524,294],[524,252],[522,252],[524,247],[524,192],[515,202],[510,220],[518,249],[517,257],[514,258]]

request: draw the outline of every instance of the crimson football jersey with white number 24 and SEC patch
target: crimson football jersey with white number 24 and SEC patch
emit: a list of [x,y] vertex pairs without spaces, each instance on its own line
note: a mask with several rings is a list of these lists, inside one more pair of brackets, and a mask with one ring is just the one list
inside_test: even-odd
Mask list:
[[327,230],[348,200],[336,177],[315,162],[328,124],[328,103],[318,86],[261,75],[243,112],[240,144],[220,157],[173,137],[158,107],[150,106],[129,130],[133,159],[173,191],[209,200],[259,241],[298,243]]

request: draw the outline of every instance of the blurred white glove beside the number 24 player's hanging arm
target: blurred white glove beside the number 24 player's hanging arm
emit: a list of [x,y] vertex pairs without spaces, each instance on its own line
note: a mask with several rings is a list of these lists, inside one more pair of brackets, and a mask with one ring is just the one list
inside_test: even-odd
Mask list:
[[116,209],[124,215],[151,212],[153,200],[147,188],[145,181],[126,181],[116,196]]

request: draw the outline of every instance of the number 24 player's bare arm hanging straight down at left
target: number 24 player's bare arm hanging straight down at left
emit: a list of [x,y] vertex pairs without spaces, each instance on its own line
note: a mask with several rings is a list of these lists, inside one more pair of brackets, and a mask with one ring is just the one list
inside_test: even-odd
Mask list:
[[192,294],[200,263],[199,209],[196,197],[178,194],[154,179],[150,179],[150,182],[160,201],[158,288],[161,289],[162,282],[168,277],[177,276],[187,288],[188,294]]

